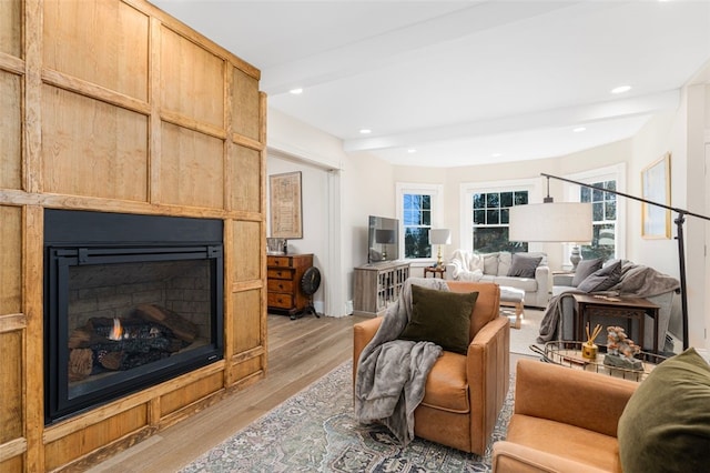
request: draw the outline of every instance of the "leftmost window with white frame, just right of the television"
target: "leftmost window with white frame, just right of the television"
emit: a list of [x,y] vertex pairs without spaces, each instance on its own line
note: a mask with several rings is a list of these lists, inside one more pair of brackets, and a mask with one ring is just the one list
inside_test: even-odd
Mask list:
[[397,183],[397,218],[402,222],[400,256],[430,260],[429,230],[440,228],[439,209],[443,187]]

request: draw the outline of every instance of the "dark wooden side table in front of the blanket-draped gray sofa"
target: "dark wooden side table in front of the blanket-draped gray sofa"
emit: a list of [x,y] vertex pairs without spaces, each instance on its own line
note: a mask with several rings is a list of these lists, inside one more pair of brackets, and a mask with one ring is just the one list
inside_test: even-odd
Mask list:
[[605,295],[572,294],[577,316],[575,318],[575,333],[577,340],[584,341],[585,321],[591,321],[594,316],[612,316],[629,320],[627,334],[630,339],[633,329],[633,320],[638,321],[639,340],[637,344],[643,349],[643,322],[646,315],[653,319],[653,353],[658,353],[658,305],[642,298],[607,298]]

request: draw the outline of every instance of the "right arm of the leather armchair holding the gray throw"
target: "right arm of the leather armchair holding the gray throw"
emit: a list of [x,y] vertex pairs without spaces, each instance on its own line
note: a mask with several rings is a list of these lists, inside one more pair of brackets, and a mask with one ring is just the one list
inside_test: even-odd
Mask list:
[[497,414],[508,392],[510,373],[510,322],[499,316],[474,336],[466,356],[466,376],[470,404],[474,451],[483,452],[493,432]]

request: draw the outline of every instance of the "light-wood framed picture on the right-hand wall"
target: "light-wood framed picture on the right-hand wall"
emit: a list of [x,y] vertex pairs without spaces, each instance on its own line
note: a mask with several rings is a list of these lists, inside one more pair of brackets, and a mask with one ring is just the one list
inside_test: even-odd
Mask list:
[[[641,191],[643,199],[670,205],[670,153],[641,171]],[[641,236],[670,239],[670,210],[642,202]]]

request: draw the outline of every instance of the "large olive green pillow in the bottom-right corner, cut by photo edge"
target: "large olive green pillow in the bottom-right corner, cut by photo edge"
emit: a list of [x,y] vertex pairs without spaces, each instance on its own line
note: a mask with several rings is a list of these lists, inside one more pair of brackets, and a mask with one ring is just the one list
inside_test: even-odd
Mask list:
[[641,382],[619,419],[618,437],[627,473],[708,471],[710,365],[694,349]]

